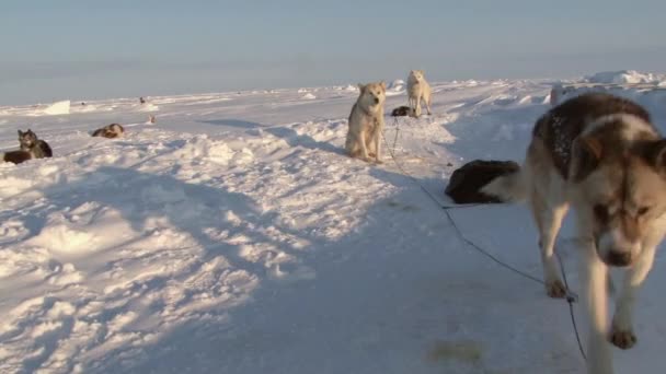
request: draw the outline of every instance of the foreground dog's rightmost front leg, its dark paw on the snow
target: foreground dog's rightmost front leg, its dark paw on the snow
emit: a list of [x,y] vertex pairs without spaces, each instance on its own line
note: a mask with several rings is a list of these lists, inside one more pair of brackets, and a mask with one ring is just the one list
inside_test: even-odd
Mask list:
[[655,252],[656,246],[644,248],[641,257],[624,274],[610,329],[610,341],[618,348],[630,349],[636,343],[633,332],[633,308],[640,288],[654,262]]

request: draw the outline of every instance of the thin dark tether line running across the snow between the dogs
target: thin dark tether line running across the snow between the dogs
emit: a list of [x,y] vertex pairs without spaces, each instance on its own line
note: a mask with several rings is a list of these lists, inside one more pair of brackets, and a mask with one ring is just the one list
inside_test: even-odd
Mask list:
[[[451,225],[453,226],[453,230],[456,231],[456,233],[458,234],[458,236],[464,242],[467,243],[470,247],[476,249],[478,253],[480,253],[481,255],[485,256],[486,258],[491,259],[492,261],[494,261],[495,264],[500,265],[501,267],[508,269],[510,271],[513,271],[514,273],[531,280],[536,283],[539,283],[541,285],[546,285],[546,282],[542,281],[541,279],[529,274],[505,261],[502,261],[501,259],[498,259],[497,257],[495,257],[493,254],[491,254],[490,252],[483,249],[481,246],[479,246],[478,244],[475,244],[474,242],[472,242],[471,239],[469,239],[467,236],[464,236],[464,234],[462,233],[462,231],[460,230],[460,227],[458,226],[458,224],[456,223],[456,220],[453,219],[453,217],[451,215],[451,213],[449,212],[449,210],[451,209],[457,209],[457,208],[470,208],[470,207],[475,207],[475,206],[480,206],[479,203],[473,203],[473,204],[461,204],[461,206],[445,206],[443,204],[439,199],[437,199],[437,197],[430,192],[427,188],[425,188],[425,186],[423,186],[421,184],[421,182],[414,177],[412,175],[412,173],[407,172],[402,164],[398,161],[398,157],[395,157],[395,142],[398,140],[398,131],[399,131],[399,122],[398,122],[398,118],[395,118],[395,140],[393,143],[393,149],[389,148],[389,142],[387,141],[386,135],[382,131],[381,132],[381,137],[384,141],[384,143],[387,144],[387,148],[389,149],[389,154],[391,155],[391,159],[393,160],[393,163],[395,164],[395,166],[400,170],[400,172],[409,177],[410,179],[412,179],[412,182],[418,186],[418,188],[421,188],[421,190],[430,199],[433,200],[438,207],[440,207],[444,210],[444,213],[446,214],[448,221],[451,223]],[[572,322],[572,326],[574,329],[574,335],[576,336],[576,342],[578,343],[578,350],[581,351],[581,355],[583,357],[583,360],[587,361],[587,355],[585,354],[585,349],[583,348],[583,342],[581,341],[581,334],[578,332],[578,325],[576,324],[576,315],[574,313],[574,303],[577,302],[578,300],[578,295],[571,291],[569,288],[569,281],[566,279],[566,271],[564,269],[564,262],[562,261],[562,257],[560,257],[560,254],[558,252],[555,252],[555,255],[558,257],[558,260],[560,262],[560,271],[562,272],[562,278],[564,281],[564,287],[566,288],[566,303],[569,304],[569,313],[571,315],[571,322]]]

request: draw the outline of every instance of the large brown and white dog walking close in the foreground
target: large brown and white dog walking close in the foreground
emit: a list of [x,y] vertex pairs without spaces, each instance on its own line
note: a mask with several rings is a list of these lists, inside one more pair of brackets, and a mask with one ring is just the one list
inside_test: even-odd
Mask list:
[[[590,317],[588,373],[612,373],[609,341],[621,349],[636,342],[636,293],[666,233],[666,140],[647,112],[602,93],[565,101],[537,121],[521,168],[482,190],[529,202],[552,297],[566,293],[554,243],[569,207],[574,208]],[[625,278],[609,332],[611,267],[625,268]]]

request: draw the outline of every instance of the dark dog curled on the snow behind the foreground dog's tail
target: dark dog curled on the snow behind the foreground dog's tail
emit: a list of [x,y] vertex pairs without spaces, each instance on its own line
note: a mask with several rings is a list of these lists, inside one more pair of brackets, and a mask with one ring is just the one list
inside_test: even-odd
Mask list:
[[513,161],[474,160],[451,174],[445,192],[457,203],[503,202],[497,197],[481,192],[481,188],[501,175],[516,173],[519,170],[520,166]]

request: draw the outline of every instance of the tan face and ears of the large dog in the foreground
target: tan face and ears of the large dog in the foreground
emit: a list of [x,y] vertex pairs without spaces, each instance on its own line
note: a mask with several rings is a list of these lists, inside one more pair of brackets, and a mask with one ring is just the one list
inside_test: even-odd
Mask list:
[[578,187],[578,209],[592,221],[597,254],[609,266],[630,266],[665,222],[666,140],[638,142],[609,157],[594,141],[581,148],[578,172],[588,175]]

